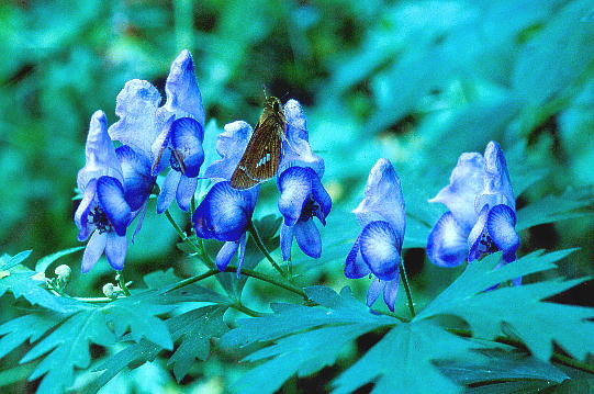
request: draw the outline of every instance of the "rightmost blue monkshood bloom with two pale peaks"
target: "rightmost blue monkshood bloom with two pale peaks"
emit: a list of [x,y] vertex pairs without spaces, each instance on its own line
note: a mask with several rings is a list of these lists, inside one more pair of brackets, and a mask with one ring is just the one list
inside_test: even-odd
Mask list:
[[490,142],[484,156],[462,154],[450,183],[429,202],[440,202],[449,210],[437,221],[427,240],[433,263],[456,267],[498,250],[503,251],[503,263],[516,259],[519,236],[515,230],[515,199],[497,143]]

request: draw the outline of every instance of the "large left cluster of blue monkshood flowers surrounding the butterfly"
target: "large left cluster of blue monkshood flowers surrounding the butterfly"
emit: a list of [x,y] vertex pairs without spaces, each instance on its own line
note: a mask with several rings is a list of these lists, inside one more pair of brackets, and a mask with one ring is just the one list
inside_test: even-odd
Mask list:
[[[204,161],[204,109],[190,53],[183,50],[172,63],[165,86],[167,100],[148,81],[134,79],[117,94],[117,122],[108,128],[105,115],[98,112],[91,120],[87,140],[87,164],[79,171],[78,188],[83,198],[75,215],[79,239],[91,234],[82,271],[90,270],[103,251],[110,264],[124,264],[131,222],[139,216],[142,226],[146,203],[157,176],[167,168],[157,196],[157,213],[167,211],[173,200],[188,211]],[[332,200],[321,178],[324,161],[309,144],[306,121],[301,105],[289,100],[283,155],[279,164],[279,210],[284,216],[281,229],[282,256],[290,259],[292,239],[309,256],[320,257],[322,241],[312,218],[325,225]],[[197,235],[225,244],[215,263],[225,270],[238,255],[238,273],[244,260],[246,232],[259,194],[259,185],[236,190],[229,180],[237,167],[253,128],[243,121],[226,124],[218,135],[216,151],[221,159],[208,166],[202,178],[213,185],[192,213]],[[115,149],[112,142],[121,146]]]

